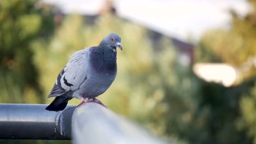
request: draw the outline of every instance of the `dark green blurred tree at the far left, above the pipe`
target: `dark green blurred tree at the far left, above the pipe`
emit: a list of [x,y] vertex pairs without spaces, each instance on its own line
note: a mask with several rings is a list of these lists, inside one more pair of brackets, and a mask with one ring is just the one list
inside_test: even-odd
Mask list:
[[[51,13],[35,9],[36,1],[0,1],[0,91],[2,103],[43,103],[31,43],[43,39]],[[54,28],[48,26],[48,34]]]

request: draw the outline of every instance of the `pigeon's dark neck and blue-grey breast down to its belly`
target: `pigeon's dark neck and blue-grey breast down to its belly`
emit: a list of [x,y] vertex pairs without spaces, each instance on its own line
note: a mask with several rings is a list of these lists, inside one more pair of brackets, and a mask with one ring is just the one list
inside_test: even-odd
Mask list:
[[74,92],[76,98],[95,98],[107,91],[117,75],[117,53],[111,49],[92,47],[86,80]]

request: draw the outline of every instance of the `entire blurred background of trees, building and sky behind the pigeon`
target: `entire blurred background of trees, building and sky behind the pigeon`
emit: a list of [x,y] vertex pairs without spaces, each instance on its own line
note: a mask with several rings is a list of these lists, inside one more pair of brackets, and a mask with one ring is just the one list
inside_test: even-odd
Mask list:
[[110,32],[110,110],[175,143],[256,143],[255,0],[1,0],[0,103],[49,104],[69,57]]

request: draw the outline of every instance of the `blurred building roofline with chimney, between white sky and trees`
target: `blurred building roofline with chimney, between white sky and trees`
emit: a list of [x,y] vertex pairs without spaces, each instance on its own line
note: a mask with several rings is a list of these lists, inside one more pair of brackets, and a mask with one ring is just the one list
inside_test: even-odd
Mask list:
[[[47,1],[46,1],[47,2]],[[42,3],[43,4],[43,3]],[[54,4],[53,4],[54,5]],[[54,5],[54,14],[55,14],[55,22],[57,25],[59,25],[61,23],[61,21],[63,20],[63,17],[66,15],[64,14],[60,8],[58,8],[58,5],[55,4]],[[106,13],[110,13],[113,14],[117,17],[119,17],[120,19],[123,19],[125,21],[129,21],[129,22],[133,22],[131,20],[131,18],[127,18],[127,17],[120,17],[117,14],[117,10],[114,7],[114,2],[113,0],[107,0],[102,2],[101,8],[98,10],[98,12],[96,14],[86,14],[84,13],[83,16],[86,19],[86,24],[88,25],[94,25],[96,22],[96,18],[100,15],[106,14]],[[136,24],[140,25],[140,23],[136,22]],[[170,37],[168,35],[165,35],[161,32],[158,32],[150,27],[144,26],[147,29],[147,33],[149,35],[149,38],[151,39],[150,41],[152,41],[152,45],[154,47],[155,51],[161,50],[161,39],[163,37],[167,37],[170,39],[171,43],[173,44],[173,46],[176,48],[176,50],[178,51],[178,61],[184,65],[184,66],[190,66],[193,64],[193,51],[194,51],[194,45],[193,44],[189,44],[186,43],[185,41],[179,40],[177,38],[174,37]]]

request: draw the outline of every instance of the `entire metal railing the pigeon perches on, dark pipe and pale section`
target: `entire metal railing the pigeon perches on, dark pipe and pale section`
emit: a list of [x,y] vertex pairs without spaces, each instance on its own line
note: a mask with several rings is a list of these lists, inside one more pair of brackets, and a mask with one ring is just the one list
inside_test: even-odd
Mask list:
[[0,104],[0,139],[71,140],[72,143],[167,143],[109,109],[86,103],[47,111],[47,105]]

